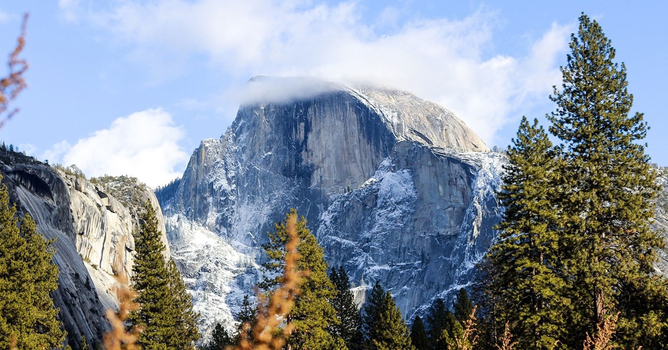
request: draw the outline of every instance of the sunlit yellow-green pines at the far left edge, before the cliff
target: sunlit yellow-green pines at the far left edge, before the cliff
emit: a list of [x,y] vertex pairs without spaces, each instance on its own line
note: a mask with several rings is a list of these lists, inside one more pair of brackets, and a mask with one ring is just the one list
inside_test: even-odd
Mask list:
[[26,214],[20,227],[7,187],[0,186],[0,347],[15,340],[18,349],[61,348],[65,333],[49,293],[58,268],[52,262],[54,240],[37,232]]

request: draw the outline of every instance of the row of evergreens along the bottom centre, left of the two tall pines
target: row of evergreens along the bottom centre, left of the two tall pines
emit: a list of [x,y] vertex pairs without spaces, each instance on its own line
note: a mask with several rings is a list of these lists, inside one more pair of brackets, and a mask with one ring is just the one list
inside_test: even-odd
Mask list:
[[[275,231],[269,234],[269,243],[264,246],[267,262],[263,264],[263,270],[267,277],[259,285],[263,291],[261,303],[253,305],[246,295],[237,315],[238,326],[232,330],[217,324],[204,349],[233,347],[242,337],[254,342],[253,333],[244,333],[244,325],[252,329],[258,315],[266,316],[263,315],[266,305],[262,301],[283,284],[285,246],[289,240],[287,222],[291,216],[297,216],[294,209],[284,222],[275,225]],[[469,339],[473,339],[474,330],[468,321],[475,316],[466,290],[460,290],[452,305],[454,313],[442,299],[438,299],[430,309],[426,323],[416,317],[409,330],[392,295],[379,282],[368,292],[364,307],[358,310],[348,275],[342,267],[331,269],[328,275],[323,248],[309,231],[305,218],[296,222],[296,229],[299,236],[297,271],[308,273],[301,277],[294,305],[282,316],[284,326],[288,323],[293,326],[285,337],[290,349],[470,349],[475,343]],[[462,347],[457,347],[458,344]]]

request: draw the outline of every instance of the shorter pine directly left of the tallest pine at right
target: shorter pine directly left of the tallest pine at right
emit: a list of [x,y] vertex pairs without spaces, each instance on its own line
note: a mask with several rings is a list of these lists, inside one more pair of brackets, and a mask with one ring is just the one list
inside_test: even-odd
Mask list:
[[[517,137],[508,147],[508,166],[498,194],[506,208],[501,230],[481,265],[486,269],[484,300],[492,329],[506,321],[522,349],[554,345],[565,329],[568,300],[562,295],[562,236],[554,200],[560,162],[544,129],[522,118]],[[494,301],[494,305],[490,305]]]

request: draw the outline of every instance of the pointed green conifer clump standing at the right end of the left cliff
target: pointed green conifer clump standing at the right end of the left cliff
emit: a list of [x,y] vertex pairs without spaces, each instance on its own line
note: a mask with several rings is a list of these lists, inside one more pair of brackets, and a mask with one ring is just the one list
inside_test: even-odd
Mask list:
[[138,293],[134,302],[139,309],[128,321],[142,329],[138,344],[144,350],[194,349],[194,341],[199,338],[196,315],[174,262],[166,262],[158,219],[148,202],[140,222],[132,268],[133,287]]

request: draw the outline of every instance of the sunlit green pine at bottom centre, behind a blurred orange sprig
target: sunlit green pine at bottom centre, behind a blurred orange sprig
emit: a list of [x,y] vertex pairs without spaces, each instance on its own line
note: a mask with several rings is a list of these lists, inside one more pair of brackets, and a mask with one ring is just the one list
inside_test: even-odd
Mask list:
[[[264,246],[268,261],[263,267],[268,277],[261,283],[261,288],[269,293],[279,285],[279,278],[283,274],[285,243],[288,240],[286,224],[291,215],[297,216],[297,210],[291,209],[286,214],[285,222],[275,224],[275,232],[269,234],[269,244]],[[338,341],[327,329],[340,321],[329,303],[335,296],[335,288],[327,276],[325,252],[309,231],[303,216],[297,222],[297,234],[299,234],[297,269],[308,273],[302,277],[301,293],[295,297],[295,305],[287,315],[287,321],[292,322],[295,327],[287,342],[295,350],[333,349],[337,347]]]

